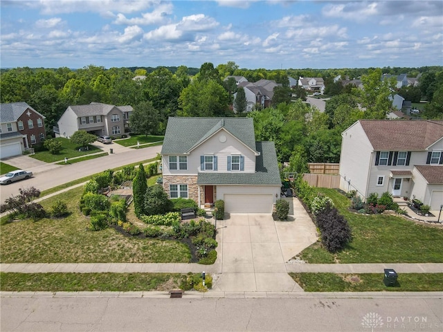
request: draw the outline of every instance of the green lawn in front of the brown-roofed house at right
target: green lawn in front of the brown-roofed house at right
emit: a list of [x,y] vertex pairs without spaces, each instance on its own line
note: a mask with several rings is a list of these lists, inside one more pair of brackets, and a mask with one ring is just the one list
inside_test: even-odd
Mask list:
[[443,263],[443,229],[408,221],[401,216],[356,214],[350,200],[334,189],[329,196],[352,228],[352,241],[335,255],[314,243],[300,258],[309,263]]

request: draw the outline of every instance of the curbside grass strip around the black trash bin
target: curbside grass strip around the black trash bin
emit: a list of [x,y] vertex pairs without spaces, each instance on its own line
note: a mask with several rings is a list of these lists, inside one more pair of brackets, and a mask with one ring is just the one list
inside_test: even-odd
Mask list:
[[289,273],[306,292],[443,291],[443,273],[400,273],[395,286],[385,286],[383,273]]

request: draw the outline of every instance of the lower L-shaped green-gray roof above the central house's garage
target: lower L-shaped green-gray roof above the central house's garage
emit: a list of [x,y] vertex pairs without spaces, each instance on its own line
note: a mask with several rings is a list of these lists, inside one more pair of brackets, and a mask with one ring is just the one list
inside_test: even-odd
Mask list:
[[199,185],[281,185],[277,154],[273,142],[257,142],[260,156],[255,159],[255,173],[201,172]]

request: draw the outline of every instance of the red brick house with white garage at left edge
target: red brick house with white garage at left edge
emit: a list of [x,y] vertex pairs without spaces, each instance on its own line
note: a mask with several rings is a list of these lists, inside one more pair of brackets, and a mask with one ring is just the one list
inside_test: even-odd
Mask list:
[[0,104],[0,158],[19,156],[46,138],[44,119],[26,102]]

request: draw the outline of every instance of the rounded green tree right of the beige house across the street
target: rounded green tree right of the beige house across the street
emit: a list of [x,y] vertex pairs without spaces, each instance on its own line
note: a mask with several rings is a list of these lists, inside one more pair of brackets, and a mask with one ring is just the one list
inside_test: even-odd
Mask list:
[[160,112],[154,108],[151,101],[137,104],[129,118],[131,130],[146,136],[158,133],[159,122]]

